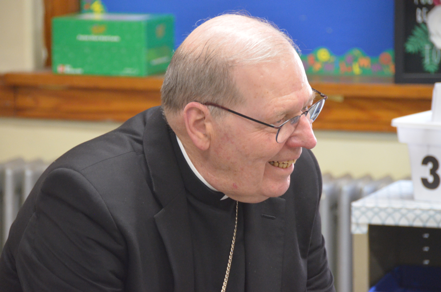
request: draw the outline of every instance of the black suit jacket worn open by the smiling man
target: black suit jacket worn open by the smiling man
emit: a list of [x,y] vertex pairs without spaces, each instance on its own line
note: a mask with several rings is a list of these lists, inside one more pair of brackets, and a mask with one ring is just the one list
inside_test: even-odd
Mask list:
[[[0,291],[193,292],[170,131],[156,107],[57,159],[11,227]],[[285,195],[244,204],[246,291],[334,291],[320,193],[319,166],[304,149]]]

